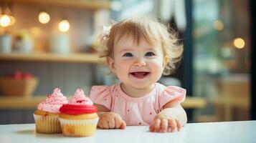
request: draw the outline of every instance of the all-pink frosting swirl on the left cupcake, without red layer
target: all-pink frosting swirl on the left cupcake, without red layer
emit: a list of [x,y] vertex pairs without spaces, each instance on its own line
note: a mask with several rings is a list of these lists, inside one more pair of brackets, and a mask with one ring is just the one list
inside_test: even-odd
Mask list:
[[67,104],[67,98],[60,92],[59,88],[56,88],[52,94],[47,95],[47,99],[44,102],[38,104],[37,109],[45,112],[60,113],[59,109],[62,104]]

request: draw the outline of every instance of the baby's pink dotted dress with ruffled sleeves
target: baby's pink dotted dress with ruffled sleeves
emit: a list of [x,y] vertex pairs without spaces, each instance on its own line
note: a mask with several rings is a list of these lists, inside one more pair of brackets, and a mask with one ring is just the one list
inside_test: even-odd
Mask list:
[[149,125],[153,118],[161,112],[163,106],[177,99],[183,102],[186,89],[156,83],[153,91],[144,97],[133,98],[125,94],[120,84],[108,86],[93,86],[90,98],[95,104],[105,106],[110,112],[120,114],[120,117],[129,126]]

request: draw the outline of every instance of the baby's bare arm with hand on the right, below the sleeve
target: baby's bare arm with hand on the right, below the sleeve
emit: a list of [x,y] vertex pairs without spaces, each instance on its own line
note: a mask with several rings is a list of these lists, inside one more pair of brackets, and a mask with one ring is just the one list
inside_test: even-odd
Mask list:
[[178,100],[168,102],[163,106],[153,119],[149,130],[151,132],[175,132],[180,131],[187,122],[186,112]]

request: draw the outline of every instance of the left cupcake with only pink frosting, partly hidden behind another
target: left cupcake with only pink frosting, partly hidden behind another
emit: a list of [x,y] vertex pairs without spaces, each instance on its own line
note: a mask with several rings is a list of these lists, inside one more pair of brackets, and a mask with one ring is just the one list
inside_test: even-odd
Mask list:
[[47,95],[47,99],[37,106],[34,112],[34,122],[36,132],[44,134],[61,133],[60,127],[60,107],[67,104],[67,98],[63,96],[59,88],[54,89],[52,94]]

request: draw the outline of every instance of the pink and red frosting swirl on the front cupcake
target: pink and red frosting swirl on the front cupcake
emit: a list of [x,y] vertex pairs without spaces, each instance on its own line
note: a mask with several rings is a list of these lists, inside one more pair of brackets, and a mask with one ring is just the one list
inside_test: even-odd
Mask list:
[[88,97],[85,97],[82,89],[77,89],[69,102],[60,107],[60,112],[73,115],[87,114],[97,112],[97,108]]

